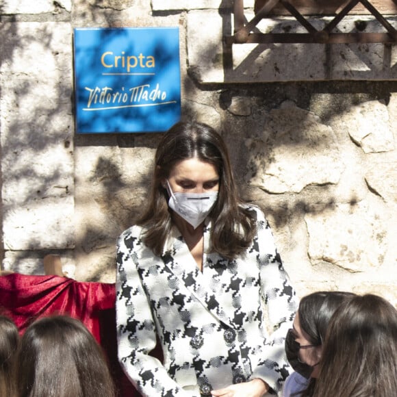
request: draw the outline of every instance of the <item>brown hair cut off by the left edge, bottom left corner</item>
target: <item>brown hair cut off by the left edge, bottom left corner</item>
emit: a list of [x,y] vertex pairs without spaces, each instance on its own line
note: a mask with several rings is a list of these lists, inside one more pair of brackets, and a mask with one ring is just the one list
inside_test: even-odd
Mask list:
[[14,363],[18,344],[16,324],[7,316],[0,316],[0,396],[16,396]]

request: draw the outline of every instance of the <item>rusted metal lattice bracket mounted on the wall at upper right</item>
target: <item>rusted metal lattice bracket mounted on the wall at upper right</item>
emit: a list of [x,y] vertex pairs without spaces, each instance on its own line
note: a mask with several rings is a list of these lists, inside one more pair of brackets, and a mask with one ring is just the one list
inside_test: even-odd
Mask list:
[[[397,1],[391,1],[389,10],[397,14]],[[387,1],[386,1],[387,2]],[[320,16],[333,16],[333,19],[326,23],[323,29],[318,30],[305,18],[303,12],[307,12],[312,5],[311,14]],[[333,6],[332,6],[333,5]],[[282,7],[281,7],[282,6]],[[365,10],[366,14],[372,14],[376,21],[385,28],[385,33],[363,32],[340,33],[333,32],[337,24],[355,7]],[[393,44],[397,42],[397,30],[387,21],[375,6],[368,0],[256,0],[255,16],[251,21],[246,22],[244,16],[244,0],[234,1],[234,34],[225,37],[226,44],[244,43],[320,43],[320,44],[341,44],[341,43],[383,43]],[[257,24],[263,19],[272,17],[274,14],[294,16],[307,33],[261,33],[253,32]]]

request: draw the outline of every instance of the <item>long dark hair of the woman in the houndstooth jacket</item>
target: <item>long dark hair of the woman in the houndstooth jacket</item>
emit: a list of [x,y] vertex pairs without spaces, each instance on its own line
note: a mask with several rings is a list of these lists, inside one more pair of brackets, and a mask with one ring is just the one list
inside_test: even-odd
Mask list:
[[175,164],[193,157],[212,164],[220,177],[218,200],[209,215],[214,220],[212,251],[233,259],[251,244],[256,231],[255,219],[241,206],[225,142],[212,127],[203,123],[177,123],[159,143],[151,196],[146,211],[137,221],[138,225],[146,227],[144,243],[155,255],[162,255],[172,227],[168,194],[162,182]]

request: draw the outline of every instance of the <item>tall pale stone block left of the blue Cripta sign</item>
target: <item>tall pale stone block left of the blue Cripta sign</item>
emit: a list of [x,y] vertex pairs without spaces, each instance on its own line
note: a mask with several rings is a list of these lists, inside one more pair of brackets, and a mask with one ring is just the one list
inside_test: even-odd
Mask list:
[[71,27],[5,23],[1,77],[3,240],[13,251],[74,246]]

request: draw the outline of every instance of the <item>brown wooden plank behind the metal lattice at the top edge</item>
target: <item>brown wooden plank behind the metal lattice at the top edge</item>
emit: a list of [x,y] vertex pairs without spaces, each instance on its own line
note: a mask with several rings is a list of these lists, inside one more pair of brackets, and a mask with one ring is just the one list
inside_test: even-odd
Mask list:
[[[255,13],[258,12],[269,0],[255,0]],[[335,15],[350,0],[290,0],[296,10],[303,15]],[[397,0],[370,0],[370,3],[383,16],[397,14]],[[361,3],[357,4],[348,15],[371,14]],[[283,5],[276,5],[269,16],[290,15]]]

